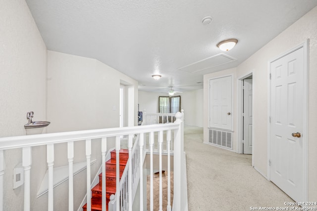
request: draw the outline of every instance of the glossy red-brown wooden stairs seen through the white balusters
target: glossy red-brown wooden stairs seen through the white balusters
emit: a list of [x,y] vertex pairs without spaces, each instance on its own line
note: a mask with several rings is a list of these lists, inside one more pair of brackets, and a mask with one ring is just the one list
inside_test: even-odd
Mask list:
[[[120,179],[123,170],[127,164],[129,158],[129,151],[127,149],[121,149],[119,154],[120,163]],[[106,162],[106,210],[108,210],[108,203],[110,196],[115,194],[116,187],[116,153],[115,150],[111,151],[111,159]],[[91,199],[91,210],[102,211],[102,173],[99,174],[99,183],[93,187],[92,199]],[[87,211],[87,204],[83,207],[84,211]]]

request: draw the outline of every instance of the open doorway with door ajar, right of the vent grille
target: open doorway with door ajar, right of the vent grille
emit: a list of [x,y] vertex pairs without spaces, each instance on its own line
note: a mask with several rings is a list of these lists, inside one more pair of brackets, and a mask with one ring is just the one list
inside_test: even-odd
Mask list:
[[[238,79],[237,153],[253,154],[253,73]],[[253,159],[252,159],[252,166]]]

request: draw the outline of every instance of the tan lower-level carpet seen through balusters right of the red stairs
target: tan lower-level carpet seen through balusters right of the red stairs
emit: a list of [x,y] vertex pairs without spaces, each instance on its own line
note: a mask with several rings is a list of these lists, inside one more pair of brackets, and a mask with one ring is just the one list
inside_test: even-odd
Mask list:
[[[171,177],[171,193],[170,198],[171,202],[170,205],[173,205],[173,171],[170,172]],[[147,210],[150,211],[150,175],[147,178]],[[159,173],[153,174],[153,210],[159,210]],[[162,208],[163,211],[166,211],[167,207],[167,171],[162,173]]]

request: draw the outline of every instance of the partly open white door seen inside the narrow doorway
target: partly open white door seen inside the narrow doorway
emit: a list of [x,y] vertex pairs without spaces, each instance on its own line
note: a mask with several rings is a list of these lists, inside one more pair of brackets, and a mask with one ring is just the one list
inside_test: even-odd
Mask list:
[[252,154],[252,79],[243,80],[243,154]]

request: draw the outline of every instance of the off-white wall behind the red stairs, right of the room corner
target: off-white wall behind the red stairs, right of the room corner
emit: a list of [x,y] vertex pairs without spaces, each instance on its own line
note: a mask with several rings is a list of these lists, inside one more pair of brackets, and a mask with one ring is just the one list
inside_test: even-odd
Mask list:
[[[124,81],[128,88],[134,89],[134,102],[129,104],[132,110],[132,123],[137,123],[138,82],[103,64],[102,62],[81,56],[48,51],[48,119],[49,132],[119,127],[119,89]],[[128,109],[128,110],[129,110]],[[134,118],[133,118],[134,117]],[[101,166],[100,142],[93,142],[92,160],[97,159],[91,168],[92,178]],[[114,147],[114,140],[108,139],[107,149]],[[64,151],[64,154],[59,152]],[[74,163],[85,161],[85,142],[75,144]],[[67,165],[66,144],[55,145],[54,166]],[[86,172],[74,177],[77,209],[86,193]],[[54,190],[67,193],[68,184],[63,183]],[[46,197],[46,196],[45,196]],[[60,198],[55,210],[67,210],[67,199]],[[37,206],[37,208],[40,206]]]

